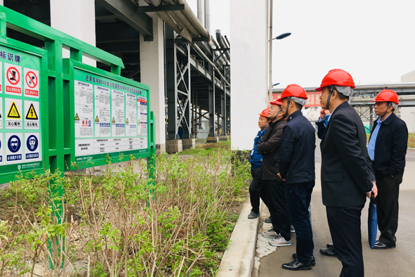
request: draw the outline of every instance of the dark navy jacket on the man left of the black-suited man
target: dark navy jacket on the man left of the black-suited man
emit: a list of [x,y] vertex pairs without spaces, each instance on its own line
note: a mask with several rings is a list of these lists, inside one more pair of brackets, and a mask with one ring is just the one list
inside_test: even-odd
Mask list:
[[287,118],[279,147],[279,173],[286,183],[315,180],[315,129],[301,110]]

